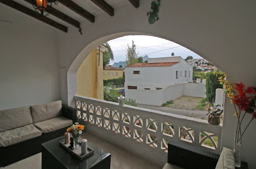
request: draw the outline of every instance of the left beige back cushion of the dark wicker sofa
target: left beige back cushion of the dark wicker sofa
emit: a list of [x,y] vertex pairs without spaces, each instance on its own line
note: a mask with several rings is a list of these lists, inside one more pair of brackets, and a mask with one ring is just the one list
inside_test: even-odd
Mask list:
[[0,111],[0,132],[32,124],[30,106]]

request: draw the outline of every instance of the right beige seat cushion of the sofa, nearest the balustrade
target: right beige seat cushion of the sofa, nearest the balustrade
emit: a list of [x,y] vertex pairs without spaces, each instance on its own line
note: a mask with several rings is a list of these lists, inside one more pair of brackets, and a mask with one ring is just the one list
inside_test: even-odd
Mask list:
[[49,133],[72,125],[72,120],[61,116],[34,123],[34,125],[43,133]]

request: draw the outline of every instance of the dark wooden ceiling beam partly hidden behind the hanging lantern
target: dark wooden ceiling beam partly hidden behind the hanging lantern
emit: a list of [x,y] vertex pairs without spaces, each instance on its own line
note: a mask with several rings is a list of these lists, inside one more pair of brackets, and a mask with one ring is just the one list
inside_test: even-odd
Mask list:
[[[35,0],[24,0],[29,4],[34,5],[35,4]],[[50,5],[47,6],[46,11],[50,14],[52,14],[53,16],[62,19],[64,22],[73,25],[76,28],[80,28],[80,23],[78,21],[76,21],[75,19],[71,18],[70,16],[62,13],[61,11],[56,10],[55,8],[52,8]]]

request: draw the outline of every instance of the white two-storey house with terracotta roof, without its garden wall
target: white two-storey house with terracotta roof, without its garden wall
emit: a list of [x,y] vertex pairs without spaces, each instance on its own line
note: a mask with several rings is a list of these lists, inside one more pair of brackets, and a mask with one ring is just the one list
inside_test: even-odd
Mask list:
[[149,58],[147,63],[126,67],[125,88],[160,90],[192,81],[192,71],[192,67],[180,56]]

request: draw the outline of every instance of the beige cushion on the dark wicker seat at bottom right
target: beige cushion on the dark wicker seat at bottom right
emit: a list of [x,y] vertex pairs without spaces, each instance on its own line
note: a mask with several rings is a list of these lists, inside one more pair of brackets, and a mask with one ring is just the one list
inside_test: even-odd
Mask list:
[[215,169],[233,169],[234,168],[234,153],[232,150],[223,147],[220,158]]

